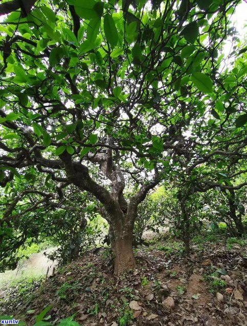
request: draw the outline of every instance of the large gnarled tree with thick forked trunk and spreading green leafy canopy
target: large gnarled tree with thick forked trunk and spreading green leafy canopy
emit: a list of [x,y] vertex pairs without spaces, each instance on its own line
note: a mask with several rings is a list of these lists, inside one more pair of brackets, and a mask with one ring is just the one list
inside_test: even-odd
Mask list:
[[83,211],[84,192],[109,223],[117,274],[135,266],[138,206],[160,182],[174,183],[186,251],[197,193],[216,189],[236,210],[247,185],[238,3],[1,3],[12,11],[0,26],[3,267],[42,226],[56,228],[50,210]]

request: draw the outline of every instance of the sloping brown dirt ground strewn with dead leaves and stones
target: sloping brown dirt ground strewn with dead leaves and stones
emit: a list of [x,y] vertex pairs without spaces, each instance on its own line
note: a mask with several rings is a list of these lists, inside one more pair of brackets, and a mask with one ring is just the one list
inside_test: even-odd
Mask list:
[[[223,240],[192,246],[151,240],[135,250],[137,269],[116,278],[107,249],[87,252],[49,277],[32,299],[0,308],[33,325],[51,304],[49,321],[74,317],[84,326],[244,326],[247,325],[246,246]],[[27,294],[28,298],[28,294]]]

